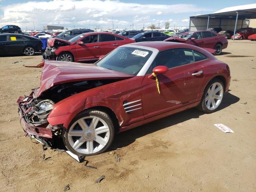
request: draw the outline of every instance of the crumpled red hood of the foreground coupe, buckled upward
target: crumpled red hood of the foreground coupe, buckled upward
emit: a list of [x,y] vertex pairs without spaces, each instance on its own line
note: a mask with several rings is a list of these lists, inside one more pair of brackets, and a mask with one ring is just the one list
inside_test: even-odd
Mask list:
[[134,76],[102,68],[94,64],[46,61],[42,71],[40,88],[36,90],[35,96],[39,97],[44,91],[56,84],[97,79],[126,79],[131,77]]

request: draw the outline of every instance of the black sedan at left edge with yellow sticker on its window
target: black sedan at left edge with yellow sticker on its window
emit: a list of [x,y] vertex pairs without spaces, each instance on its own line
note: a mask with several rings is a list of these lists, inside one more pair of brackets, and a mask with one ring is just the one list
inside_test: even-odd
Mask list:
[[42,50],[42,42],[22,34],[0,34],[0,55],[22,54],[32,56]]

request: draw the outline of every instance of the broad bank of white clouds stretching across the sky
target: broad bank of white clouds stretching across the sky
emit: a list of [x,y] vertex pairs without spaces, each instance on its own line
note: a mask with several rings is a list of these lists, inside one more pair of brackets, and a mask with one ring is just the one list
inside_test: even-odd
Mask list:
[[150,18],[154,16],[161,15],[165,18],[170,14],[189,13],[191,10],[207,10],[193,4],[139,4],[118,0],[29,1],[11,4],[1,9],[4,15],[0,17],[0,26],[16,24],[21,28],[34,28],[34,22],[38,29],[46,24],[64,27],[81,25],[91,28],[96,25],[112,26],[112,17],[115,19],[114,26],[118,25],[119,28],[128,27],[132,23],[141,28],[143,23],[151,23]]

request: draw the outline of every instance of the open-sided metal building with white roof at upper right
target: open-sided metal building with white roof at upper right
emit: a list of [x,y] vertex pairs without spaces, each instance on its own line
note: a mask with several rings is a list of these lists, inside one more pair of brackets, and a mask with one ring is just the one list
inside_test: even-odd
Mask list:
[[250,19],[256,18],[256,3],[228,7],[212,14],[191,16],[190,31],[206,30],[208,28],[222,28],[222,30],[236,30],[249,26]]

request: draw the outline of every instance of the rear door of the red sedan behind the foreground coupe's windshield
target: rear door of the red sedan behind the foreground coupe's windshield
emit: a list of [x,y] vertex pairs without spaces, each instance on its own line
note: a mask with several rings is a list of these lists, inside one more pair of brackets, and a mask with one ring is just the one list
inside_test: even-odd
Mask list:
[[116,36],[110,34],[100,34],[100,51],[106,55],[118,46]]

